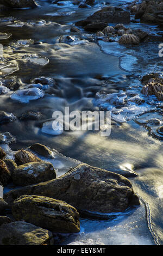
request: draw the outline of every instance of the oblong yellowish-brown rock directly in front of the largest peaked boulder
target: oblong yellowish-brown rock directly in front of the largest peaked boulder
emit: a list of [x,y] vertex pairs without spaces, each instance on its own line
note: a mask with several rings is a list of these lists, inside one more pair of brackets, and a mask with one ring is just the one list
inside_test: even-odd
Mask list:
[[79,213],[71,205],[42,196],[22,196],[14,201],[12,214],[18,221],[59,233],[80,231]]

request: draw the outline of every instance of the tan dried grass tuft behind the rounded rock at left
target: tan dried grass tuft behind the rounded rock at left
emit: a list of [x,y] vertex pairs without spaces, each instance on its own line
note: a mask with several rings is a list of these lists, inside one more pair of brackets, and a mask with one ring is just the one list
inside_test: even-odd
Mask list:
[[15,162],[18,166],[24,163],[41,162],[42,160],[28,150],[18,150],[15,154]]

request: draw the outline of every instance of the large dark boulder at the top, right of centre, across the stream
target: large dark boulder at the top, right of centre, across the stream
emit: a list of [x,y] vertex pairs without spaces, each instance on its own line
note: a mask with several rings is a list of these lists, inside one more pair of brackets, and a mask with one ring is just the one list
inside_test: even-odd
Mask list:
[[130,13],[119,7],[104,7],[102,10],[96,11],[96,13],[87,17],[86,20],[78,21],[76,25],[83,26],[86,31],[98,31],[104,29],[109,22],[129,23]]

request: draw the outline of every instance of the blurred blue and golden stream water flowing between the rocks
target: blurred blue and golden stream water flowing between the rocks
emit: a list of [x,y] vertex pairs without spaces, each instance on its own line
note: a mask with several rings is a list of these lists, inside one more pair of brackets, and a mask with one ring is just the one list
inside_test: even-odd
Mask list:
[[[0,31],[12,34],[0,41],[4,50],[2,82],[5,74],[10,74],[12,80],[16,76],[22,90],[36,77],[49,78],[49,84],[41,90],[32,89],[35,96],[23,95],[21,90],[13,94],[12,86],[0,95],[0,110],[16,117],[2,125],[0,131],[16,137],[17,142],[10,145],[12,150],[36,142],[58,150],[60,154],[55,151],[51,160],[58,176],[79,162],[121,174],[133,170],[138,174],[130,175],[129,179],[140,197],[139,207],[98,218],[82,216],[80,233],[57,234],[56,243],[163,244],[163,145],[158,133],[163,121],[162,102],[155,96],[142,95],[140,82],[143,75],[151,72],[162,75],[159,42],[122,46],[117,42],[95,40],[95,34],[84,31],[82,35],[70,32],[74,22],[103,6],[125,5],[127,1],[97,0],[92,8],[84,9],[71,1],[62,3],[39,1],[37,9],[15,9],[0,14]],[[130,23],[127,26],[153,35],[159,33],[153,25]],[[74,40],[67,42],[67,35],[74,36]],[[111,97],[106,99],[99,92]],[[111,135],[102,137],[97,131],[64,131],[54,135],[52,114],[64,111],[65,106],[70,107],[70,111],[111,111]],[[41,112],[41,119],[20,119],[27,111]],[[150,118],[158,118],[160,125],[145,126]],[[13,151],[7,144],[2,147],[12,158]]]

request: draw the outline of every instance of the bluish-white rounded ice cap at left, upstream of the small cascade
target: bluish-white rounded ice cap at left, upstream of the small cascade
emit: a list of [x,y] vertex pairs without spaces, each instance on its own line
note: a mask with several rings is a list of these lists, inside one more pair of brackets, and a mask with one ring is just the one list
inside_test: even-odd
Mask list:
[[12,93],[11,99],[17,100],[21,103],[28,103],[30,100],[37,100],[40,97],[43,97],[43,92],[39,88],[29,88],[24,90],[17,90],[15,93]]

